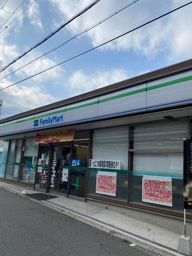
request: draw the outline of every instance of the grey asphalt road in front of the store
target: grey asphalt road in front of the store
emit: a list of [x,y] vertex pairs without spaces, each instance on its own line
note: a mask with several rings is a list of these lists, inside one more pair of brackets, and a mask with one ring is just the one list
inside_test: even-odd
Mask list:
[[[128,241],[0,188],[0,256],[147,256]],[[156,255],[156,254],[154,254]]]

